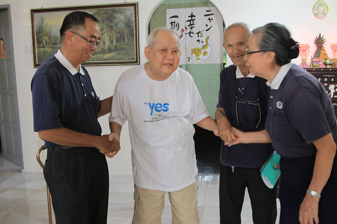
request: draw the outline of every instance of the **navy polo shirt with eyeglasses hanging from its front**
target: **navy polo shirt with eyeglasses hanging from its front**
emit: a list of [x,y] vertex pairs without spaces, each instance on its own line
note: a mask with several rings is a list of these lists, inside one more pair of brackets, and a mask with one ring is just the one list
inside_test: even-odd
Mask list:
[[[244,77],[240,69],[235,65],[228,66],[221,71],[217,107],[225,110],[227,119],[233,127],[243,131],[261,131],[265,129],[268,97],[266,81],[253,75]],[[254,104],[236,103],[238,100],[240,102],[259,103],[260,108]],[[260,111],[261,121],[258,124]],[[224,166],[260,168],[273,151],[271,144],[237,144],[228,147],[222,142],[220,162]]]

